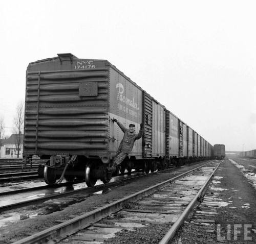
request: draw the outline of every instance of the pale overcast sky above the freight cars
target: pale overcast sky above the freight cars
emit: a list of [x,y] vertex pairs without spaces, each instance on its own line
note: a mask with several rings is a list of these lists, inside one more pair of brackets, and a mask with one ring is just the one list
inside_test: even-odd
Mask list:
[[29,62],[107,59],[212,145],[256,149],[255,1],[1,1],[0,115]]

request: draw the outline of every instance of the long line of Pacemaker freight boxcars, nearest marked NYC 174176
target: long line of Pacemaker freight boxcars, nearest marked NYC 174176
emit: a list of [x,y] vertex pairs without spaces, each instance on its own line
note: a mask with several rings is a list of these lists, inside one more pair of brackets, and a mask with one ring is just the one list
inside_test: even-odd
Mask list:
[[88,186],[110,181],[108,167],[123,138],[113,118],[135,124],[137,133],[144,126],[121,172],[213,156],[212,145],[106,60],[58,54],[28,65],[23,156],[48,159],[47,184],[63,176]]

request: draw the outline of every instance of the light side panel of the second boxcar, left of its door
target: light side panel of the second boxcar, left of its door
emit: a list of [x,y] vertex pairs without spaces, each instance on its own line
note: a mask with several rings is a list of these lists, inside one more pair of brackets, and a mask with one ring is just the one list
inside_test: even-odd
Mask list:
[[172,113],[170,116],[170,130],[169,130],[169,155],[179,157],[179,119]]

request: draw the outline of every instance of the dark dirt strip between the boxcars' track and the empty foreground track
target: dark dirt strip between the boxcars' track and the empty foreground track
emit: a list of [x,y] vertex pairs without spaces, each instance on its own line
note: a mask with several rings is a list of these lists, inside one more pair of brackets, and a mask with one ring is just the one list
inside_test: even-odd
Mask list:
[[[51,210],[54,208],[59,208],[57,211],[49,211],[48,214],[38,214],[39,206],[35,206],[35,211],[32,211],[31,207],[27,209],[31,209],[31,215],[33,218],[26,218],[28,215],[23,212],[23,209],[19,209],[20,216],[17,218],[18,222],[6,222],[5,226],[0,228],[0,242],[1,243],[12,243],[15,240],[27,237],[33,233],[37,233],[38,231],[45,230],[46,228],[50,228],[56,224],[59,224],[63,221],[67,221],[68,219],[79,216],[83,213],[89,212],[97,207],[103,206],[107,203],[111,203],[117,199],[128,196],[131,193],[137,192],[139,190],[145,189],[149,186],[172,178],[176,175],[186,172],[187,170],[194,168],[195,166],[202,165],[205,162],[195,163],[190,166],[185,166],[181,168],[175,168],[165,173],[158,173],[155,175],[147,175],[142,179],[137,179],[131,183],[125,183],[122,186],[113,187],[108,189],[108,192],[105,194],[90,194],[90,196],[79,194],[77,199],[74,197],[70,198],[61,198],[55,200],[51,200],[49,203],[49,207],[47,209]],[[101,192],[99,192],[101,193]],[[69,201],[77,201],[76,203],[69,204]],[[63,201],[63,202],[62,202]],[[80,202],[79,202],[80,201]],[[66,204],[65,207],[61,207],[61,204]],[[67,204],[68,203],[68,204]],[[38,207],[38,208],[37,208]],[[2,213],[8,217],[11,215],[13,211],[8,211]],[[35,215],[37,214],[37,215]],[[23,217],[24,216],[24,217]],[[10,216],[11,217],[11,216]],[[23,220],[22,220],[23,218]],[[22,223],[20,223],[22,221]],[[11,228],[10,228],[11,226]]]

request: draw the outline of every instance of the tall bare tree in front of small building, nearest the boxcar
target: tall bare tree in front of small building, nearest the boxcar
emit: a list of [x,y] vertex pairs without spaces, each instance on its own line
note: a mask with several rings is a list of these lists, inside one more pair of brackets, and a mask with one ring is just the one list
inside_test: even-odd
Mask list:
[[22,130],[24,125],[24,106],[23,102],[19,102],[16,107],[16,115],[13,118],[13,130],[15,133],[15,147],[17,157],[19,157],[20,144],[22,144]]

